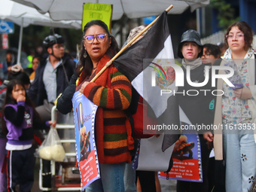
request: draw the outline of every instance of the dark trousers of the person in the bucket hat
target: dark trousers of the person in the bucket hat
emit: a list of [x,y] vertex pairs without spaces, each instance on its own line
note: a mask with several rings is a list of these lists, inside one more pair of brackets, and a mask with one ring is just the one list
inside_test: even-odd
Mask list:
[[177,181],[177,192],[208,192],[208,163],[210,150],[206,140],[200,135],[203,182]]

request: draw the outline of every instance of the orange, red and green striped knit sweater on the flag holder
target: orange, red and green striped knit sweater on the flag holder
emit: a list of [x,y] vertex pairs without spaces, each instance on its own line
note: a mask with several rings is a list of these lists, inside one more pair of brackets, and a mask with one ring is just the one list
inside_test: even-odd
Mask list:
[[[96,73],[109,60],[107,55],[102,56]],[[110,73],[108,70],[111,70]],[[111,87],[108,87],[109,79],[111,79]],[[78,85],[81,82],[83,79],[80,78]],[[95,82],[87,84],[84,89],[84,95],[99,106],[96,112],[96,148],[99,163],[130,163],[131,161],[130,150],[134,148],[134,141],[131,136],[130,121],[123,111],[130,105],[131,87],[126,76],[111,65]]]

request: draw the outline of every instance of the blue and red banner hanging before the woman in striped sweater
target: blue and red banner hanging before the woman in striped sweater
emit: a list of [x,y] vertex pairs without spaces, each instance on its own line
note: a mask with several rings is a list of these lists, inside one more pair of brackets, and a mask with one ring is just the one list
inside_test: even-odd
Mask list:
[[98,106],[77,91],[72,99],[75,122],[75,148],[83,190],[100,178],[94,136],[94,120]]

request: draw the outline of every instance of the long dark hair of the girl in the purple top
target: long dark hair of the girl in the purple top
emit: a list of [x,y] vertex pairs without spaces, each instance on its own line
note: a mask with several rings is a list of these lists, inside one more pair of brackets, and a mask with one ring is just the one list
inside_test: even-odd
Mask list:
[[[18,79],[11,80],[8,83],[7,87],[6,87],[5,102],[4,102],[4,105],[3,105],[4,107],[2,108],[2,114],[3,114],[2,115],[2,130],[3,130],[3,133],[5,133],[5,135],[7,135],[7,133],[8,133],[8,129],[6,127],[6,121],[5,121],[5,118],[4,118],[5,117],[5,115],[4,115],[5,114],[5,105],[9,105],[9,104],[15,105],[15,104],[17,104],[17,100],[14,99],[13,96],[12,96],[12,91],[14,90],[14,87],[16,85],[21,85],[25,90],[23,82],[18,80]],[[32,100],[29,99],[29,96],[27,96],[27,94],[26,94],[25,103],[26,103],[26,105],[29,105],[33,109],[33,120],[36,120],[36,121],[41,120],[40,115],[38,114],[37,111],[35,111],[35,106],[34,106]]]

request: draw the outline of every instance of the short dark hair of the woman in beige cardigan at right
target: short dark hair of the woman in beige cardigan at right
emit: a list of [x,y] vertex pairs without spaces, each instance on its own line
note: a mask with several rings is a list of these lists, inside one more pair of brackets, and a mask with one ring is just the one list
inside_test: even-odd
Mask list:
[[227,43],[226,35],[230,33],[230,30],[232,29],[233,26],[237,26],[238,29],[241,30],[242,33],[244,34],[244,38],[245,38],[244,50],[248,50],[248,48],[251,48],[254,32],[252,31],[251,26],[249,26],[248,23],[246,23],[245,21],[235,22],[227,28],[227,32],[225,33],[225,36],[224,36],[224,39],[225,39],[224,41],[225,41],[225,44],[227,44],[227,47],[228,47],[228,43]]

